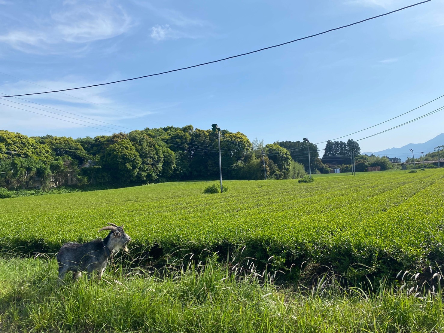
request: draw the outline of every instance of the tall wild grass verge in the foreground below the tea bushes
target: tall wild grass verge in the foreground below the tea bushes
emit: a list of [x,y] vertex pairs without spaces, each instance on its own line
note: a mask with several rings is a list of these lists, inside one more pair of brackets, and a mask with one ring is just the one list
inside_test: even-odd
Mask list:
[[434,292],[387,285],[364,293],[321,278],[281,289],[209,262],[165,274],[107,269],[57,285],[54,259],[0,258],[0,332],[441,332]]

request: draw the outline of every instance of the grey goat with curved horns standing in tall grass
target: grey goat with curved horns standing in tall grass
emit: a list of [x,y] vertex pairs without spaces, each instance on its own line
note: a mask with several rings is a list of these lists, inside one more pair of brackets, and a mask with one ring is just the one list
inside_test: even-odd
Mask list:
[[57,254],[60,281],[63,280],[67,271],[73,273],[73,281],[80,277],[82,272],[87,272],[88,277],[91,277],[91,273],[94,271],[99,274],[98,277],[101,279],[109,256],[119,252],[120,249],[128,252],[127,243],[131,241],[131,237],[125,234],[123,225],[108,224],[109,226],[104,226],[99,230],[110,230],[108,236],[103,240],[97,238],[84,244],[63,244]]

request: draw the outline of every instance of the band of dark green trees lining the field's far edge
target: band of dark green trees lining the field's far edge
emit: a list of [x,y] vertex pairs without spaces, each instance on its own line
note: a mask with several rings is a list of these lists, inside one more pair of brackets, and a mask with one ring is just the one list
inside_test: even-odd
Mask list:
[[[309,147],[308,147],[309,144]],[[386,157],[360,155],[349,139],[328,141],[322,159],[318,147],[303,141],[265,144],[246,135],[221,131],[223,179],[295,179],[311,173],[391,168]],[[308,153],[310,150],[310,155]],[[310,156],[310,158],[309,158]],[[134,186],[152,182],[219,178],[218,136],[192,125],[146,128],[129,133],[72,139],[28,137],[0,130],[0,187],[6,189],[76,186]]]

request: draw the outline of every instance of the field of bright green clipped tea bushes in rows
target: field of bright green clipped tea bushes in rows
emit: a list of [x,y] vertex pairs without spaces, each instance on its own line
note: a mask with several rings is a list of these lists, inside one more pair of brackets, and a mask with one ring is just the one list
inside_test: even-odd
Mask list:
[[219,251],[233,263],[252,257],[259,269],[292,268],[294,277],[301,266],[326,265],[357,283],[442,262],[444,170],[314,177],[228,181],[229,192],[212,195],[203,190],[214,182],[170,182],[2,199],[0,243],[55,253],[112,222],[125,224],[133,258],[153,246],[163,258]]

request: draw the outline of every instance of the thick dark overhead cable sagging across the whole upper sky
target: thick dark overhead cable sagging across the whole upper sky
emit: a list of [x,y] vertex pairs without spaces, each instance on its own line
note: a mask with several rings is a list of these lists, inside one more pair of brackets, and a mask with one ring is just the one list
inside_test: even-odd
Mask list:
[[351,26],[353,26],[353,25],[355,25],[355,24],[360,24],[360,23],[363,23],[363,22],[365,22],[365,21],[373,20],[373,19],[376,19],[376,18],[378,18],[378,17],[386,16],[386,15],[389,15],[389,14],[392,14],[392,13],[395,13],[395,12],[399,12],[399,11],[404,10],[404,9],[407,9],[407,8],[411,8],[411,7],[414,7],[414,6],[420,5],[420,4],[425,4],[426,2],[430,2],[430,1],[432,1],[432,0],[426,0],[426,1],[418,2],[418,3],[416,3],[416,4],[412,4],[412,5],[410,5],[410,6],[406,6],[406,7],[403,7],[403,8],[399,8],[399,9],[393,10],[393,11],[391,11],[391,12],[387,12],[387,13],[385,13],[385,14],[381,14],[381,15],[377,15],[377,16],[369,17],[368,19],[365,19],[365,20],[357,21],[357,22],[354,22],[354,23],[351,23],[351,24],[346,24],[346,25],[343,25],[343,26],[341,26],[341,27],[333,28],[333,29],[329,29],[329,30],[326,30],[326,31],[323,31],[323,32],[319,32],[319,33],[314,34],[314,35],[305,36],[305,37],[302,37],[302,38],[297,38],[297,39],[295,39],[295,40],[290,40],[290,41],[285,42],[285,43],[276,44],[276,45],[273,45],[273,46],[268,46],[268,47],[266,47],[266,48],[260,48],[260,49],[258,49],[258,50],[254,50],[254,51],[250,51],[250,52],[246,52],[246,53],[241,53],[241,54],[238,54],[238,55],[236,55],[236,56],[230,56],[230,57],[226,57],[226,58],[222,58],[222,59],[218,59],[218,60],[208,61],[208,62],[206,62],[206,63],[199,63],[199,64],[197,64],[197,65],[192,65],[192,66],[188,66],[188,67],[182,67],[182,68],[172,69],[172,70],[170,70],[170,71],[163,71],[163,72],[160,72],[160,73],[155,73],[155,74],[149,74],[149,75],[138,76],[138,77],[131,78],[131,79],[123,79],[123,80],[112,81],[112,82],[107,82],[107,83],[92,84],[92,85],[90,85],[90,86],[76,87],[76,88],[69,88],[69,89],[60,89],[60,90],[52,90],[52,91],[43,91],[43,92],[35,92],[35,93],[31,93],[31,94],[20,94],[20,95],[10,95],[10,96],[0,96],[0,98],[4,98],[4,97],[18,97],[18,96],[28,96],[28,95],[40,95],[40,94],[48,94],[48,93],[51,93],[51,92],[61,92],[61,91],[69,91],[69,90],[84,89],[84,88],[91,88],[91,87],[99,87],[99,86],[104,86],[104,85],[107,85],[107,84],[113,84],[113,83],[126,82],[126,81],[137,80],[137,79],[143,79],[143,78],[147,78],[147,77],[151,77],[151,76],[156,76],[156,75],[163,75],[163,74],[172,73],[172,72],[175,72],[175,71],[183,71],[183,70],[185,70],[185,69],[190,69],[190,68],[194,68],[194,67],[204,66],[204,65],[208,65],[208,64],[210,64],[210,63],[218,63],[218,62],[225,61],[225,60],[228,60],[228,59],[233,59],[233,58],[238,58],[238,57],[242,57],[242,56],[247,56],[247,55],[249,55],[249,54],[256,53],[256,52],[261,52],[261,51],[265,51],[265,50],[268,50],[268,49],[270,49],[270,48],[277,48],[277,47],[279,47],[279,46],[283,46],[283,45],[290,44],[290,43],[294,43],[294,42],[297,42],[297,41],[300,41],[300,40],[305,40],[305,39],[308,39],[308,38],[316,37],[316,36],[323,35],[323,34],[326,34],[326,33],[328,33],[328,32],[332,32],[332,31],[335,31],[335,30],[339,30],[339,29],[343,29],[343,28],[348,28],[348,27],[351,27]]

